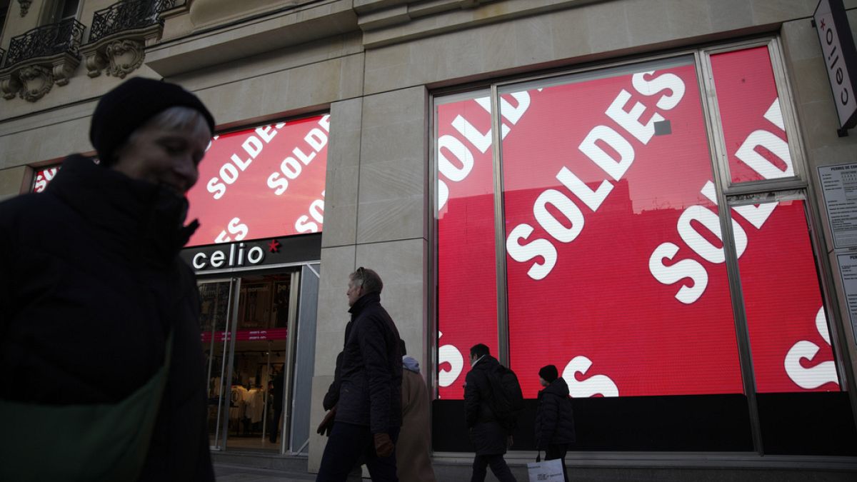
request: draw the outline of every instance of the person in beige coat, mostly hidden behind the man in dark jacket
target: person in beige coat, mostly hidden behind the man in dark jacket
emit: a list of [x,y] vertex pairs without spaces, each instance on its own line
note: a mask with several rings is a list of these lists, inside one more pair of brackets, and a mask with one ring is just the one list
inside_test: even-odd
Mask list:
[[431,467],[431,424],[428,416],[428,389],[420,375],[420,364],[402,351],[402,430],[396,442],[396,473],[402,482],[434,482]]

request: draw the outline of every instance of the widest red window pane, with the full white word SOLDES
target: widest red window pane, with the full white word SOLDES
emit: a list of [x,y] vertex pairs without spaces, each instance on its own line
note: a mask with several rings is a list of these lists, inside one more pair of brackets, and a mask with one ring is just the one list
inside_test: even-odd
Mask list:
[[509,363],[575,397],[741,393],[692,59],[526,87],[502,144]]

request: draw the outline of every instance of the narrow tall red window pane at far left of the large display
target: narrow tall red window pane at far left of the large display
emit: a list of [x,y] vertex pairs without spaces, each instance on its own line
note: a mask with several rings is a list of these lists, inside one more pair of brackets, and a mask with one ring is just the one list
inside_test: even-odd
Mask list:
[[497,350],[494,178],[488,92],[437,107],[441,398],[464,396],[470,346]]

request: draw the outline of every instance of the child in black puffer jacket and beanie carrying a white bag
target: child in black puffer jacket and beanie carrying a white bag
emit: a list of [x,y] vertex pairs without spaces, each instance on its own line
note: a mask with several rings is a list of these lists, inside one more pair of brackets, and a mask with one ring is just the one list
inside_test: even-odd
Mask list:
[[539,381],[545,387],[538,393],[536,410],[536,449],[544,450],[544,460],[562,461],[562,477],[566,473],[566,451],[574,442],[574,414],[568,397],[568,384],[559,377],[556,366],[543,366],[538,371]]

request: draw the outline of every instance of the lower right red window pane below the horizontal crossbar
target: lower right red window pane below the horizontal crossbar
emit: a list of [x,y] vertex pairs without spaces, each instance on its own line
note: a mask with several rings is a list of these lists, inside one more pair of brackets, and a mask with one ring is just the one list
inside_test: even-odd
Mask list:
[[804,202],[751,208],[769,213],[754,238],[758,242],[739,259],[756,389],[838,390]]

